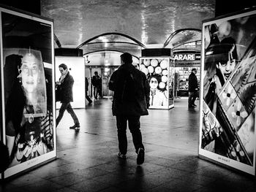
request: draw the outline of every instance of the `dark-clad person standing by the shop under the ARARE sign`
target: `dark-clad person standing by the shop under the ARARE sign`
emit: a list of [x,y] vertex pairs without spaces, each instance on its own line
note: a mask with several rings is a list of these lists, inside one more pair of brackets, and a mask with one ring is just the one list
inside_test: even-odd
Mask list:
[[198,96],[198,85],[197,85],[197,69],[193,68],[191,74],[189,74],[189,107],[197,107],[195,99]]

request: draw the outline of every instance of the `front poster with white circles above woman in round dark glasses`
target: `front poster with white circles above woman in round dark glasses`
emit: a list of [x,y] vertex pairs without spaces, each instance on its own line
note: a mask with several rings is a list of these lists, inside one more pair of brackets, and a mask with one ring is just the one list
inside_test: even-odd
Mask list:
[[140,71],[150,85],[150,109],[169,109],[170,58],[140,58]]

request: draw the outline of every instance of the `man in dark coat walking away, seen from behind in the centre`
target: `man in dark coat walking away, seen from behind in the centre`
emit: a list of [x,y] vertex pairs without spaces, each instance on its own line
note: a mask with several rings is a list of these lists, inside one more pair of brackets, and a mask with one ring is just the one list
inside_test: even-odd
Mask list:
[[109,88],[114,91],[112,112],[116,116],[118,158],[127,158],[127,121],[135,146],[137,164],[143,164],[145,148],[140,132],[140,116],[148,115],[150,87],[146,74],[132,65],[132,55],[121,55],[121,66],[110,77]]

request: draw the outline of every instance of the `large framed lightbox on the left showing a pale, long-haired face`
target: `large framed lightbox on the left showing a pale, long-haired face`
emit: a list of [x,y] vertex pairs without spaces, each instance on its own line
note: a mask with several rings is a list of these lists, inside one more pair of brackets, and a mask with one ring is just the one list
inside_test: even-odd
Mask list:
[[[15,139],[4,180],[56,159],[55,63],[53,20],[1,5],[0,27],[1,141]],[[10,112],[13,96],[21,110]],[[20,124],[10,123],[13,112]]]

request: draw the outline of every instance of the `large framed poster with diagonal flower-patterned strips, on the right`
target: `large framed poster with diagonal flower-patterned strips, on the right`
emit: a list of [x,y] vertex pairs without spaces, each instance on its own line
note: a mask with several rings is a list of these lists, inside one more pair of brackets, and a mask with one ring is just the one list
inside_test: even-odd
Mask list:
[[256,11],[203,23],[199,153],[255,174]]

